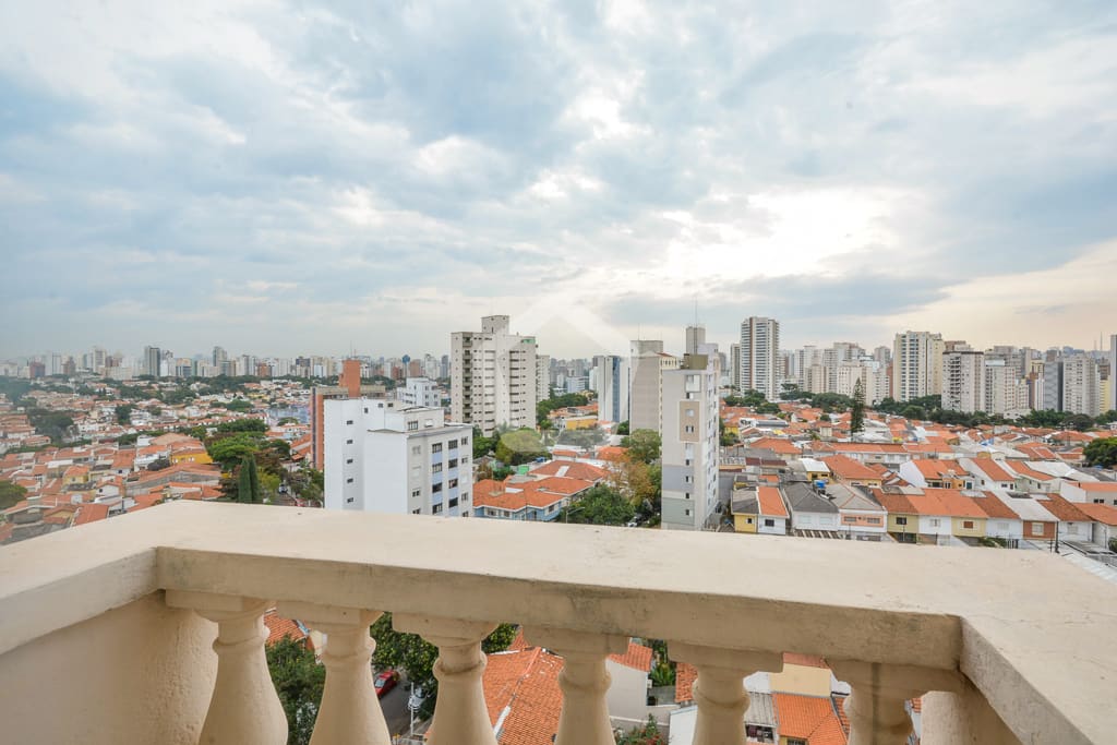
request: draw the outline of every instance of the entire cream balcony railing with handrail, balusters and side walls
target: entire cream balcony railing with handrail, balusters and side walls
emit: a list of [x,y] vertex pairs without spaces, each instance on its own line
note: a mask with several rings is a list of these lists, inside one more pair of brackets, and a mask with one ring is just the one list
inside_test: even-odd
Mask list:
[[315,745],[390,742],[383,611],[439,648],[432,745],[495,744],[498,621],[565,657],[560,745],[613,742],[629,634],[697,667],[698,745],[744,742],[742,679],[784,651],[850,684],[852,745],[905,743],[917,695],[928,745],[1117,732],[1117,591],[1049,554],[175,503],[0,548],[2,739],[280,745],[273,605],[327,634]]

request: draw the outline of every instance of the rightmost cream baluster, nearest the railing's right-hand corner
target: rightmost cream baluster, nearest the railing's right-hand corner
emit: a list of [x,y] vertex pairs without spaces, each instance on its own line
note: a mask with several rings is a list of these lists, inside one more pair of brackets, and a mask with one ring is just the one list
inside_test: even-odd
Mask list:
[[956,674],[903,665],[858,660],[828,660],[840,680],[849,684],[846,699],[849,745],[904,745],[911,734],[906,703],[927,690],[957,690]]

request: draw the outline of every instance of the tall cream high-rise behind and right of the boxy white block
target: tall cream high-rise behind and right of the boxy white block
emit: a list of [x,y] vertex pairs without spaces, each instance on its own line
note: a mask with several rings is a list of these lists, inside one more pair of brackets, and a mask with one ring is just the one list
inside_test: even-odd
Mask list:
[[480,332],[450,335],[450,418],[479,427],[486,437],[499,426],[535,427],[535,337],[508,327],[508,316],[486,316]]

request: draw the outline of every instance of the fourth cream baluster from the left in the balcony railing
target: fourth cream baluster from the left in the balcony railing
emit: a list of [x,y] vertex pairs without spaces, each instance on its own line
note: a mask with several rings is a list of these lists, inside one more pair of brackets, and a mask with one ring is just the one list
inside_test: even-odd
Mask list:
[[628,637],[558,629],[525,629],[524,636],[563,658],[558,675],[563,701],[556,745],[612,745],[613,729],[605,698],[611,678],[605,658],[628,650]]

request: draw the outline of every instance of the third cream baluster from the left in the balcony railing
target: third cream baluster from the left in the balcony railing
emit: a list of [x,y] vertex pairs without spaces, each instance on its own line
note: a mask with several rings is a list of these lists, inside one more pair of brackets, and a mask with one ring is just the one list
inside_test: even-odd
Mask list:
[[438,647],[435,662],[438,703],[429,745],[496,745],[481,685],[485,672],[481,641],[496,625],[405,613],[392,617],[392,628],[397,631],[418,633]]

